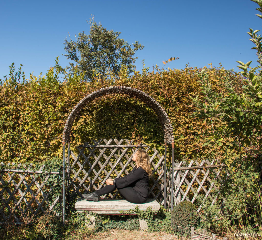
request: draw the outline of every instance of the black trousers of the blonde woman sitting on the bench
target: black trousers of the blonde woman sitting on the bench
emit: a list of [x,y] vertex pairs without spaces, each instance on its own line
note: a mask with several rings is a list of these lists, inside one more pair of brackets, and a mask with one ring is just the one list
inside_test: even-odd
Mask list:
[[[108,194],[112,191],[114,191],[116,188],[114,185],[106,185],[102,187],[99,190],[96,190],[96,194],[101,196]],[[146,201],[146,198],[139,195],[139,193],[133,189],[133,187],[124,187],[121,189],[118,189],[121,195],[129,202],[132,203],[144,203]]]

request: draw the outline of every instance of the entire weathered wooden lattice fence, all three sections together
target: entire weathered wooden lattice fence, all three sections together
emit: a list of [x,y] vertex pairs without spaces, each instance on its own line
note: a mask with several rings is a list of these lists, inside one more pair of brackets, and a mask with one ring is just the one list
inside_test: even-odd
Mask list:
[[[91,192],[105,186],[108,178],[118,178],[128,174],[134,167],[133,153],[139,149],[145,149],[150,155],[153,175],[149,180],[149,197],[156,199],[164,205],[165,174],[164,155],[147,145],[134,145],[128,140],[109,139],[94,141],[94,144],[83,144],[69,151],[69,165],[65,187],[67,197],[81,197],[83,193]],[[74,154],[74,152],[77,154]],[[170,161],[170,159],[168,159]],[[21,223],[25,217],[32,218],[38,213],[47,214],[62,208],[62,171],[47,172],[45,165],[37,171],[32,170],[31,165],[26,170],[12,169],[12,165],[1,163],[0,169],[0,223]],[[170,163],[169,163],[170,164]],[[18,165],[21,166],[21,165]],[[202,196],[201,204],[210,199],[212,205],[217,196],[214,190],[218,186],[215,180],[220,179],[221,172],[226,173],[223,164],[217,160],[211,163],[209,160],[177,162],[174,164],[174,189],[173,201],[177,205],[181,201],[195,202],[198,196]],[[166,206],[171,208],[172,201],[172,173],[167,170],[166,179]],[[56,184],[53,184],[54,178]],[[60,191],[54,191],[54,187]],[[121,197],[118,191],[101,196],[104,198]],[[69,199],[67,199],[69,200]],[[68,202],[68,201],[66,201]],[[61,216],[61,215],[60,215]]]

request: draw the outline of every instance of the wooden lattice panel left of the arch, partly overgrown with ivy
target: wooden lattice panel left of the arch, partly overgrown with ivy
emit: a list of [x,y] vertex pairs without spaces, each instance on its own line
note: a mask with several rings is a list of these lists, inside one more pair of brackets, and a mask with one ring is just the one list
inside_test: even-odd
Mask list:
[[[1,165],[10,167],[10,164]],[[51,172],[42,179],[41,173],[45,165],[38,171],[32,171],[31,166],[27,170],[0,171],[0,223],[21,223],[25,222],[25,219],[28,222],[39,212],[50,212],[59,201],[60,195],[57,195],[55,200],[50,202],[48,197],[53,194],[54,186],[46,184],[51,175],[59,178],[59,172]]]

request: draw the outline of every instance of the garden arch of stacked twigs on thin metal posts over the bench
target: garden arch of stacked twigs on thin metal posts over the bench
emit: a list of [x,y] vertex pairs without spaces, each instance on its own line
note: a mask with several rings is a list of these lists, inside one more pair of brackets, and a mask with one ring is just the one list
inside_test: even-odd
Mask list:
[[[165,109],[160,105],[159,102],[157,102],[153,97],[151,97],[149,94],[133,87],[126,87],[126,86],[110,86],[106,88],[100,88],[97,91],[94,91],[87,96],[85,96],[82,100],[80,100],[77,105],[73,108],[71,113],[69,114],[67,121],[64,126],[63,130],[63,138],[62,138],[62,144],[63,144],[63,181],[62,181],[62,219],[63,224],[65,222],[65,143],[68,144],[68,166],[67,166],[67,174],[70,174],[70,163],[69,163],[69,156],[70,156],[70,134],[71,129],[73,126],[73,123],[75,119],[79,116],[81,110],[88,104],[89,102],[95,100],[96,98],[111,95],[111,94],[122,94],[122,95],[128,95],[129,97],[137,98],[138,100],[143,101],[146,103],[148,107],[154,110],[156,113],[160,124],[164,131],[164,143],[165,143],[165,208],[166,208],[166,150],[167,150],[167,144],[172,145],[172,187],[171,187],[171,210],[173,210],[173,202],[174,202],[174,133],[173,133],[173,127],[171,124],[171,121],[165,111]],[[67,179],[69,181],[69,179]],[[68,193],[69,195],[69,193]]]

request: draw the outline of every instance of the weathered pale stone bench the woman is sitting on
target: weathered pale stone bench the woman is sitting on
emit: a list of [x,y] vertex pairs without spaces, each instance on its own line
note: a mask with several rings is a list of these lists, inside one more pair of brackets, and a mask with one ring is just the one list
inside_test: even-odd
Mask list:
[[[124,211],[129,211],[135,209],[138,206],[139,210],[146,210],[148,207],[152,208],[152,211],[157,212],[160,209],[160,204],[155,199],[148,199],[145,203],[135,204],[128,202],[125,199],[100,199],[98,202],[87,201],[85,199],[78,199],[75,203],[75,210],[79,212],[90,211],[97,214],[133,214],[135,213],[124,213]],[[123,211],[123,212],[122,212]],[[90,221],[95,224],[95,219],[90,218]],[[140,229],[147,229],[147,222],[145,220],[139,219]]]

